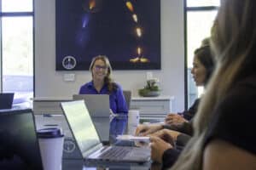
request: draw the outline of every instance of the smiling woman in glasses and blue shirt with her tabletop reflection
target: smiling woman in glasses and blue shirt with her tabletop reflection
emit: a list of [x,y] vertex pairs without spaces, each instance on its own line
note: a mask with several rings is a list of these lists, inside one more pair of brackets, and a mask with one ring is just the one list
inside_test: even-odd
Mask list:
[[111,78],[112,67],[108,57],[105,55],[94,57],[90,63],[90,72],[92,80],[81,86],[79,94],[109,94],[111,111],[115,114],[123,115],[120,116],[122,118],[118,116],[113,118],[110,126],[110,134],[116,136],[123,133],[128,110],[121,86],[113,82]]

